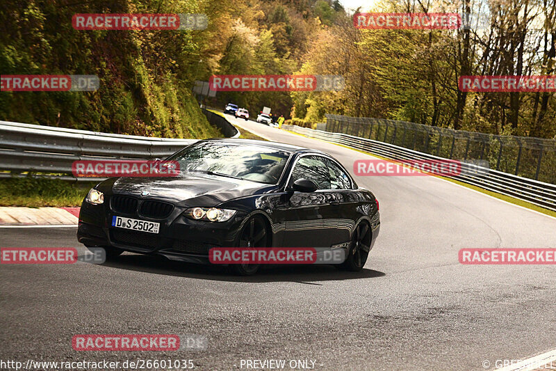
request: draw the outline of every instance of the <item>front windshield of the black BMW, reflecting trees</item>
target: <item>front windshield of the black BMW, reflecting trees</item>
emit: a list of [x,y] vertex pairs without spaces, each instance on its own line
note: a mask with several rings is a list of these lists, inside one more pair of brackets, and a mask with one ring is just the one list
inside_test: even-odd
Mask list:
[[257,145],[203,142],[185,148],[169,160],[179,162],[181,173],[215,173],[276,184],[290,155]]

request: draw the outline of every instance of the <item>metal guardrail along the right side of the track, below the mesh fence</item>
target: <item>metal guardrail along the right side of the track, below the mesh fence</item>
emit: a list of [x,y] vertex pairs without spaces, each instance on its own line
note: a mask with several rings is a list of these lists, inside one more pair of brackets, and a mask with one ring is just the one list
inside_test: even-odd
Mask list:
[[[309,129],[295,125],[283,125],[282,128],[311,138],[322,139],[358,150],[364,150],[389,159],[446,160],[443,157],[437,157],[416,150],[409,150],[391,143],[361,138],[350,134],[324,132],[322,130]],[[503,173],[502,171],[477,166],[476,164],[466,163],[465,161],[461,162],[461,174],[447,177],[556,211],[555,184]]]

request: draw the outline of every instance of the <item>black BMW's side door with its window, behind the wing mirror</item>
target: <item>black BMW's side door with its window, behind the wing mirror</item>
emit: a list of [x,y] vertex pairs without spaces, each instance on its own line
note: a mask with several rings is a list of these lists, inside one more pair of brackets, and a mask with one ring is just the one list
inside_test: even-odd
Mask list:
[[312,180],[317,184],[315,192],[295,191],[284,203],[284,239],[286,247],[326,247],[329,237],[322,233],[322,218],[327,214],[331,200],[329,171],[326,159],[318,155],[302,155],[291,170],[286,189],[298,179]]

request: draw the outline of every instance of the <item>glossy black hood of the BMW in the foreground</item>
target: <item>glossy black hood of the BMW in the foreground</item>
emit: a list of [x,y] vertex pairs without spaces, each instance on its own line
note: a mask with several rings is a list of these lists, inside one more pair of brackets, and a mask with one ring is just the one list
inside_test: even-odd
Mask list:
[[[117,177],[101,182],[97,189],[108,194],[125,194],[165,200],[183,207],[213,207],[234,198],[274,191],[275,185],[236,180],[218,175],[179,177]],[[143,192],[149,192],[143,196]]]

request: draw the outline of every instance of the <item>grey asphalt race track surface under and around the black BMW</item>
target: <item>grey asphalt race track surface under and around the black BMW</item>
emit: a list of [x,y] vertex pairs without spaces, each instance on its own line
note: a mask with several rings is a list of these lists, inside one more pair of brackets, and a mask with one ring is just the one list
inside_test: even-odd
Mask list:
[[[229,116],[231,117],[231,116]],[[235,120],[254,134],[368,156]],[[359,274],[277,267],[241,278],[126,253],[92,265],[2,265],[1,358],[26,362],[313,360],[315,370],[484,370],[556,349],[556,275],[541,265],[461,265],[460,248],[555,248],[556,219],[435,177],[356,177],[381,231]],[[0,228],[2,247],[80,246],[76,228]],[[80,333],[198,334],[199,352],[76,352]],[[309,362],[311,365],[311,362]],[[243,368],[245,370],[245,367]]]

